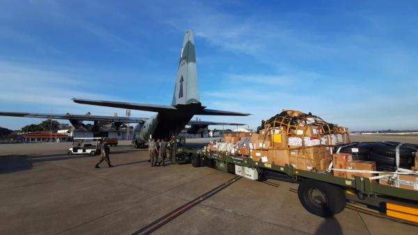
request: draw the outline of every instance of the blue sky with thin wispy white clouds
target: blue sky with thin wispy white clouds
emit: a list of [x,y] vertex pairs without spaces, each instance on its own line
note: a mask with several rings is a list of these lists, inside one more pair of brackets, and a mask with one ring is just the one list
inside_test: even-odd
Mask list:
[[418,129],[417,12],[416,1],[1,1],[0,110],[170,104],[192,29],[203,105],[254,113],[201,120],[256,128],[287,108],[352,130]]

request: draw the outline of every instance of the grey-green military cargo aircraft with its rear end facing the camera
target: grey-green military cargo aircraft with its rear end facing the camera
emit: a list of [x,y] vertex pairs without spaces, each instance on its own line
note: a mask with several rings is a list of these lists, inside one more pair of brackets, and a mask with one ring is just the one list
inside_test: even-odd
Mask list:
[[75,129],[86,128],[83,121],[93,121],[93,126],[89,131],[100,131],[100,122],[113,122],[116,129],[123,123],[137,123],[134,127],[135,147],[144,147],[148,138],[171,138],[178,135],[186,125],[191,126],[187,133],[203,133],[207,131],[208,125],[244,125],[240,123],[226,122],[205,122],[200,120],[191,120],[194,115],[229,115],[246,116],[249,113],[235,113],[231,111],[219,111],[208,109],[202,106],[199,96],[199,88],[196,70],[196,54],[194,50],[194,38],[191,30],[186,31],[183,40],[183,47],[180,51],[180,61],[178,63],[178,72],[176,86],[174,88],[173,100],[171,105],[156,104],[137,104],[127,102],[112,102],[91,99],[72,99],[78,104],[90,104],[95,106],[107,106],[114,108],[129,108],[132,110],[150,111],[157,114],[152,117],[112,117],[101,115],[72,115],[72,114],[49,114],[49,113],[16,113],[0,112],[3,116],[13,117],[38,117],[50,119],[69,120]]

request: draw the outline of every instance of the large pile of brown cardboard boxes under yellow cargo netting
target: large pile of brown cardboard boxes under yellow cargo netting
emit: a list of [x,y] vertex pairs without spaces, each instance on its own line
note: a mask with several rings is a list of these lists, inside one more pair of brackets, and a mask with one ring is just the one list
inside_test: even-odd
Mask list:
[[267,164],[323,171],[330,163],[332,145],[349,140],[348,129],[300,111],[283,111],[263,121],[257,132],[225,134],[224,143],[234,145],[230,154],[250,156]]

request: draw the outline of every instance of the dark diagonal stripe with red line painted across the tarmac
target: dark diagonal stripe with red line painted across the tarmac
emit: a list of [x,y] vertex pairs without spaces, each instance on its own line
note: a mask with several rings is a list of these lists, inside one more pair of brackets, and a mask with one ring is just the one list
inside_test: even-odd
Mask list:
[[241,179],[240,176],[233,177],[229,181],[226,181],[224,184],[221,184],[217,186],[216,188],[213,188],[212,190],[208,191],[207,193],[204,193],[203,195],[196,197],[196,199],[187,202],[186,204],[183,204],[183,206],[179,206],[177,209],[174,209],[173,211],[167,213],[165,216],[162,216],[161,218],[155,220],[154,222],[151,222],[150,224],[146,225],[145,227],[139,229],[137,232],[134,232],[133,234],[151,234],[155,230],[159,229],[160,227],[166,225],[171,220],[174,220],[181,214],[185,213],[189,209],[192,209],[197,204],[203,202],[204,200],[208,199],[209,197],[212,197],[213,195],[219,193],[224,188],[230,186],[231,184],[238,181],[238,179]]

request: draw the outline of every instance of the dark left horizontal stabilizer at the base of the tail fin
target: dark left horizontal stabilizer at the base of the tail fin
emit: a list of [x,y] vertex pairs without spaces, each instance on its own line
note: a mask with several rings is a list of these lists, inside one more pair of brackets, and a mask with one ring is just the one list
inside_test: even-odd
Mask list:
[[92,99],[72,99],[78,104],[91,104],[96,106],[106,106],[114,108],[129,108],[134,110],[141,111],[150,111],[150,112],[163,112],[163,111],[172,111],[177,108],[167,105],[157,105],[157,104],[137,104],[137,103],[127,103],[127,102],[111,102],[105,100],[92,100]]

